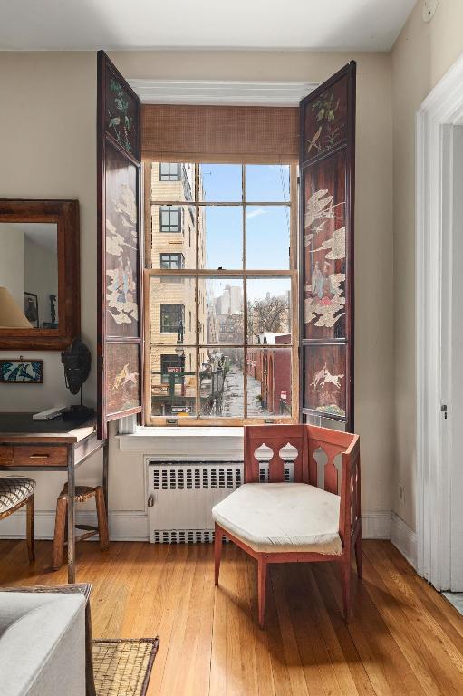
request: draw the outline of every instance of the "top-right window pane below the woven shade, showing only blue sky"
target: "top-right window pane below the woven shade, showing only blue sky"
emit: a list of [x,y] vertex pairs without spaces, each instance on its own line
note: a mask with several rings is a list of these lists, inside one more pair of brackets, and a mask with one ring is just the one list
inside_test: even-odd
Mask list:
[[246,164],[246,201],[289,201],[288,164]]

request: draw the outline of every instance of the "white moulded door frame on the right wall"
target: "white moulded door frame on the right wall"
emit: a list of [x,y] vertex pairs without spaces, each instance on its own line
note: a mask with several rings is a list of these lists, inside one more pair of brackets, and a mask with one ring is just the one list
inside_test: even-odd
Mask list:
[[[416,117],[416,458],[418,573],[451,579],[452,126],[463,123],[463,55]],[[447,405],[448,418],[441,411]],[[463,486],[460,485],[460,488]],[[463,496],[463,489],[458,491]]]

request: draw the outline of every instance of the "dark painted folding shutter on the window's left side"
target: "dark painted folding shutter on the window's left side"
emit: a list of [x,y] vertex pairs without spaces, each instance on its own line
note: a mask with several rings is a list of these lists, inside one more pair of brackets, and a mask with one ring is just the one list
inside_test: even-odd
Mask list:
[[98,436],[142,410],[140,99],[98,53]]

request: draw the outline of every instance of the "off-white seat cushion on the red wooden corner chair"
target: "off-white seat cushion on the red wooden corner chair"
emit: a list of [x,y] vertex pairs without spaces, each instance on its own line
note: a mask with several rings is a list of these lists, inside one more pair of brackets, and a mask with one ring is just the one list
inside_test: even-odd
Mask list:
[[339,555],[340,500],[306,483],[246,483],[217,503],[212,517],[255,551]]

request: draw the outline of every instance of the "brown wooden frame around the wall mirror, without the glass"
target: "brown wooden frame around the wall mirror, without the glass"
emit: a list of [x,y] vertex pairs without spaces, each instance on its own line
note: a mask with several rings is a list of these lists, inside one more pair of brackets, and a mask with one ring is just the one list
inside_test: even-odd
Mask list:
[[0,222],[57,226],[58,328],[0,328],[0,349],[62,351],[81,333],[79,201],[0,198]]

